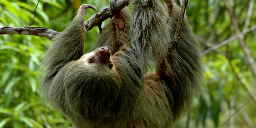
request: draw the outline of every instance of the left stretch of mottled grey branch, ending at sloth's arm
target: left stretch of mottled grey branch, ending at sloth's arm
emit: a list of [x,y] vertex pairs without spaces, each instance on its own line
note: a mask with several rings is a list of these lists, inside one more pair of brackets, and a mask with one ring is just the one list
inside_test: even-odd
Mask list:
[[35,35],[53,39],[59,32],[45,27],[0,27],[0,35],[3,34]]

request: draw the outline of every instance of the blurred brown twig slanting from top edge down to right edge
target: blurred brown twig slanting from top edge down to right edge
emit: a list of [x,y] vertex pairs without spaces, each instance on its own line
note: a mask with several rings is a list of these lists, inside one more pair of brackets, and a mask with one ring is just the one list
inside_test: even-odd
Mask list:
[[[233,14],[232,8],[228,5],[227,0],[223,0],[223,1],[224,1],[224,5],[226,6],[226,8],[227,8],[227,10],[230,14],[233,26],[235,27],[236,34],[237,35],[241,34],[238,23],[236,22],[235,15]],[[240,42],[240,44],[242,46],[242,49],[244,51],[245,57],[246,57],[247,61],[249,62],[249,65],[250,65],[251,70],[253,72],[254,78],[256,78],[256,68],[254,66],[254,60],[253,60],[253,58],[251,58],[250,50],[248,49],[248,47],[245,44],[244,37],[239,36],[238,39],[239,39],[239,42]]]

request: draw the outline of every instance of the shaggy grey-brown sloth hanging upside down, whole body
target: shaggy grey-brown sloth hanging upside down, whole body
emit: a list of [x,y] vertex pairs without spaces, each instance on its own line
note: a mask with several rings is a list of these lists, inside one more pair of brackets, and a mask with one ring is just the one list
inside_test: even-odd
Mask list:
[[[202,91],[197,42],[184,18],[171,51],[180,8],[165,0],[131,0],[105,24],[96,46],[84,55],[89,4],[52,40],[43,59],[41,87],[75,128],[172,128],[184,107]],[[114,8],[115,0],[110,0]],[[108,47],[104,47],[108,46]],[[111,52],[112,51],[112,52]],[[154,63],[153,71],[149,68]]]

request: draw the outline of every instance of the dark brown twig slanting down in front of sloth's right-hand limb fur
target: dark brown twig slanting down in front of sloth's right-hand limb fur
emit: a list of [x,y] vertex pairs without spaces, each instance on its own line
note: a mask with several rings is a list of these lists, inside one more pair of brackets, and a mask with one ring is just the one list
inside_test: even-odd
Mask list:
[[178,23],[177,23],[177,28],[176,28],[175,35],[174,35],[174,40],[172,42],[172,50],[174,50],[177,47],[178,41],[180,39],[180,29],[181,29],[181,26],[183,23],[184,13],[185,13],[188,2],[189,2],[189,0],[183,0],[183,2],[182,2],[181,11],[180,11],[180,15],[178,18]]

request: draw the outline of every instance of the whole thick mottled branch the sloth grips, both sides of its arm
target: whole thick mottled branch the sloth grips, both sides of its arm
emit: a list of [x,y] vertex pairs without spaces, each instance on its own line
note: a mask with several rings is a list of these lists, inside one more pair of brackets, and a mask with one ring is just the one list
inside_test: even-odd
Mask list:
[[[109,17],[112,17],[114,13],[129,5],[129,0],[119,0],[116,2],[116,8],[112,10],[110,6],[107,6],[102,11],[90,17],[87,21],[85,21],[85,26],[87,30],[91,30],[97,24],[102,23]],[[0,35],[3,34],[20,34],[20,35],[35,35],[39,37],[46,37],[49,39],[53,39],[59,32],[55,30],[48,29],[45,27],[0,27]]]

